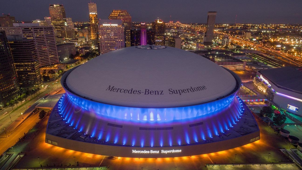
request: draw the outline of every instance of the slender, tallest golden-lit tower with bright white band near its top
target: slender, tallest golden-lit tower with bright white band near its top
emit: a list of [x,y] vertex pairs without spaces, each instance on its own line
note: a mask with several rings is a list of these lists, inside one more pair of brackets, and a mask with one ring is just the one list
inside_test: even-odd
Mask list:
[[98,11],[96,4],[88,3],[91,44],[98,46]]

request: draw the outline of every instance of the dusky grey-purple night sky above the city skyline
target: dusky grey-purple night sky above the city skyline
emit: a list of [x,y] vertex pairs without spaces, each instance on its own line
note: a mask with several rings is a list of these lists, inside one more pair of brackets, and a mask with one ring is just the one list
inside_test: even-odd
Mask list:
[[[49,4],[63,4],[66,17],[88,21],[89,0],[0,0],[0,13],[17,21],[44,20]],[[216,23],[302,23],[302,0],[95,0],[98,18],[108,19],[113,9],[127,10],[132,21],[206,23],[207,12],[217,11]]]

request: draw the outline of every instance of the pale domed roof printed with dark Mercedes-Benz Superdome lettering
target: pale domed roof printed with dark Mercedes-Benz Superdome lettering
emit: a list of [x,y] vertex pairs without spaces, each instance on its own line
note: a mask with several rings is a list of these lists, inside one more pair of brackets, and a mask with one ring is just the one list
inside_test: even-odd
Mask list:
[[197,54],[164,46],[127,47],[102,54],[67,76],[81,97],[120,106],[177,107],[231,93],[229,71]]

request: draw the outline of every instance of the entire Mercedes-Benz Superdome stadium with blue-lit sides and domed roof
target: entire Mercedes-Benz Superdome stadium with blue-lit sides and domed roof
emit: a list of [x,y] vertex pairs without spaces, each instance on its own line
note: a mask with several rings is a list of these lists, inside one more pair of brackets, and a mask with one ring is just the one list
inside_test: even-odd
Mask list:
[[260,139],[236,96],[240,78],[197,54],[165,46],[115,50],[66,72],[46,142],[99,155],[200,155]]

